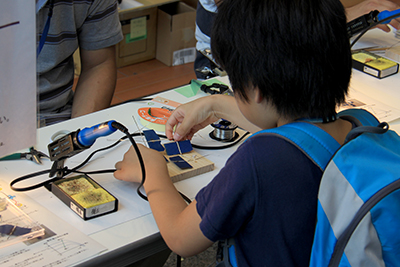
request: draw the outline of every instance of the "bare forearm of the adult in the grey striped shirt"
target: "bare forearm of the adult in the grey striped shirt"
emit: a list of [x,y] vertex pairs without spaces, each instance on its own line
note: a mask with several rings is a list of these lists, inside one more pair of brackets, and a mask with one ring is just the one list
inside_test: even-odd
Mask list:
[[80,50],[82,70],[75,89],[72,118],[110,106],[117,80],[115,46]]

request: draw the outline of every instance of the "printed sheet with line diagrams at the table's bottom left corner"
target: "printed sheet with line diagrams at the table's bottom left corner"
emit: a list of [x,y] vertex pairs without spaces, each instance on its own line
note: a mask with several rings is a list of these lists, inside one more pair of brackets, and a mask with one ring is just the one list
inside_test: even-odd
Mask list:
[[0,266],[69,266],[106,250],[29,197],[16,195],[1,180],[0,192],[45,229],[44,236],[3,247]]

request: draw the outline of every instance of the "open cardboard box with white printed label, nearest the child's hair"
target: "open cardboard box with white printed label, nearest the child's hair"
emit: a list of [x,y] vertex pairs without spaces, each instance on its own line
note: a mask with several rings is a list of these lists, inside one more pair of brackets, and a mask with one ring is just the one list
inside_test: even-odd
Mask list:
[[196,58],[196,10],[182,2],[158,7],[156,59],[167,66]]

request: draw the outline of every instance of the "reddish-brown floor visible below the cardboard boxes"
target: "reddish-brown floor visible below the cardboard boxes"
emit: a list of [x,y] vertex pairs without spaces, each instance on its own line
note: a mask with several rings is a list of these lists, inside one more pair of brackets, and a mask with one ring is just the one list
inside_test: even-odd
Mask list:
[[118,69],[112,105],[188,84],[196,79],[193,63],[168,67],[153,59]]

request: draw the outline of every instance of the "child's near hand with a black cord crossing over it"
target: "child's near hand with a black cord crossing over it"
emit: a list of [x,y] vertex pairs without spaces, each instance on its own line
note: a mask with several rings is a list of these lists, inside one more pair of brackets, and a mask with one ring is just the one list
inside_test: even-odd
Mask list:
[[[146,177],[154,175],[156,171],[166,170],[164,157],[156,150],[137,145],[142,155]],[[162,168],[164,166],[165,168]],[[133,146],[125,153],[122,161],[115,164],[114,177],[118,180],[140,183],[142,181],[142,169],[138,156]]]

